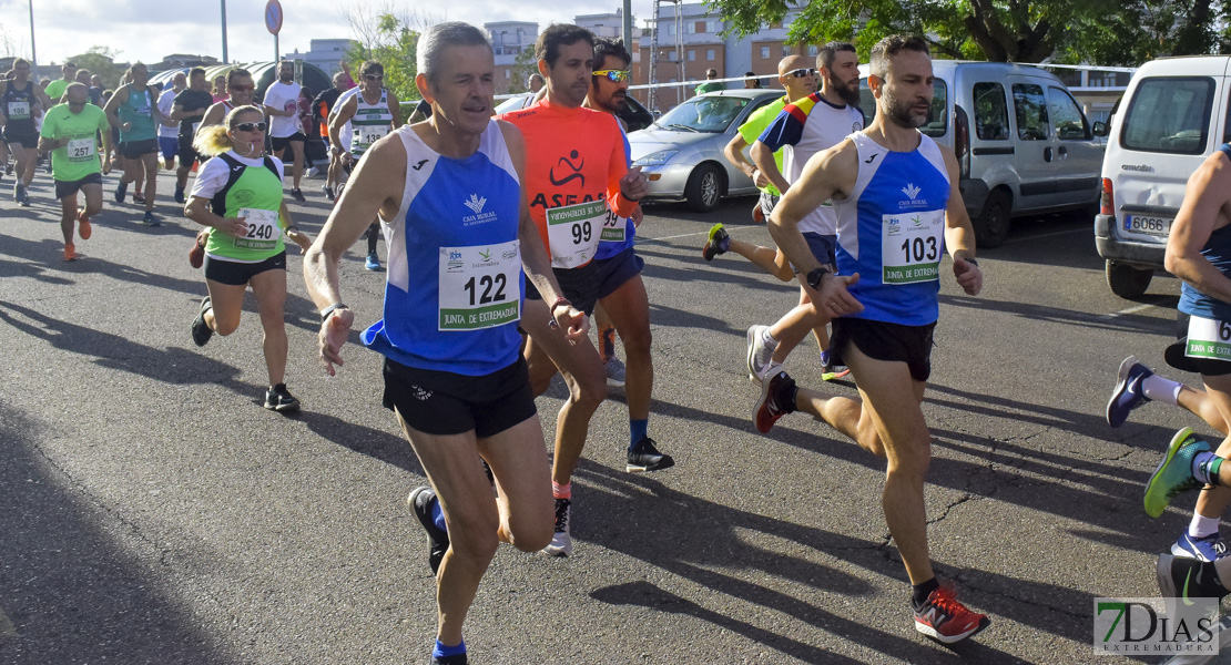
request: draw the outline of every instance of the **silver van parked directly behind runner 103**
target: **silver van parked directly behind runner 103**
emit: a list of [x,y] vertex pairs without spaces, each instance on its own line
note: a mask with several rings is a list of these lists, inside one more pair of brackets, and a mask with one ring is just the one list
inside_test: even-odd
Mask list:
[[[867,77],[868,66],[860,73]],[[932,60],[932,113],[920,132],[953,149],[980,247],[1008,237],[1011,219],[1098,207],[1103,145],[1055,75],[1011,63]],[[867,79],[859,102],[872,117]]]

